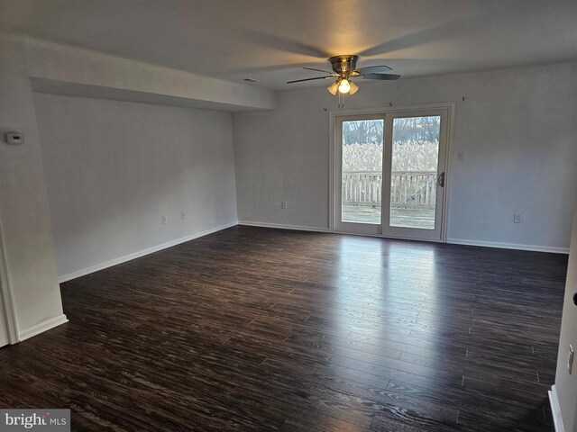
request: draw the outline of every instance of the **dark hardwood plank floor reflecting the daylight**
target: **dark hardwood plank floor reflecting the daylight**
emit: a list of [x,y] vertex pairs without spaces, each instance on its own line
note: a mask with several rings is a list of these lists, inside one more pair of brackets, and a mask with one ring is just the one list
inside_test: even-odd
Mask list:
[[567,257],[234,227],[62,284],[0,406],[73,430],[553,431]]

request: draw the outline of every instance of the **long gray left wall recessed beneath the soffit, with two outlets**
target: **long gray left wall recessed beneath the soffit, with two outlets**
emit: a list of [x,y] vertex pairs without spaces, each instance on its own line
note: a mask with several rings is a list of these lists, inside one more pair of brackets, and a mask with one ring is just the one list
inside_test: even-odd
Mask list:
[[236,222],[230,112],[34,102],[61,277]]

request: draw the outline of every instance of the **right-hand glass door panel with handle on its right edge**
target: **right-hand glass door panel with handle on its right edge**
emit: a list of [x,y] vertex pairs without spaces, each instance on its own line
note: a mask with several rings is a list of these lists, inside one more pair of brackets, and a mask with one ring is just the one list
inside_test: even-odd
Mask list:
[[448,118],[448,109],[387,115],[384,235],[442,238]]

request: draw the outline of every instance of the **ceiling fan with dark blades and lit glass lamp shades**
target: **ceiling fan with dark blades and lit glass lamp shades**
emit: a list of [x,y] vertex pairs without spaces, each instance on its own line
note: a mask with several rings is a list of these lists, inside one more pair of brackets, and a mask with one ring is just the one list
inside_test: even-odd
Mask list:
[[333,56],[328,59],[331,62],[331,67],[333,67],[333,72],[328,72],[322,69],[316,69],[314,67],[303,67],[308,70],[315,70],[317,72],[325,72],[329,74],[327,76],[316,76],[315,78],[305,78],[296,79],[294,81],[289,81],[287,84],[301,83],[303,81],[312,81],[314,79],[331,79],[336,78],[332,85],[327,87],[327,90],[331,94],[355,94],[359,90],[359,86],[353,83],[351,78],[363,78],[363,79],[380,79],[385,81],[390,81],[398,79],[400,75],[388,74],[389,70],[392,70],[388,66],[368,66],[361,67],[357,69],[357,61],[359,56]]

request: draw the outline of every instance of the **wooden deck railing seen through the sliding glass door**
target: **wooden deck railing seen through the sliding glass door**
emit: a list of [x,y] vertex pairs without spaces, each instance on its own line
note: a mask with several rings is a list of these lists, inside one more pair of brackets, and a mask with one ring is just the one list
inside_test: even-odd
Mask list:
[[[345,171],[343,204],[377,206],[382,199],[380,171]],[[435,208],[436,171],[393,171],[390,203],[395,208]]]

